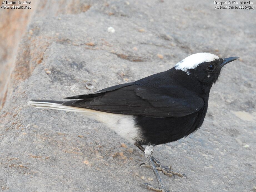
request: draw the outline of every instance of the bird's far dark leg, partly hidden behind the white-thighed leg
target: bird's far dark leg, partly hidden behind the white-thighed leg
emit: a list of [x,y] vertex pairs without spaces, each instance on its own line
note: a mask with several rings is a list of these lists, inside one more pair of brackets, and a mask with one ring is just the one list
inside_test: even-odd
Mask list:
[[[137,146],[143,153],[145,153],[145,148],[142,145],[140,145],[139,143],[135,143],[134,145]],[[185,174],[178,173],[177,171],[172,170],[171,166],[167,167],[167,166],[162,165],[153,156],[152,156],[152,160],[155,163],[156,169],[159,170],[159,171],[162,171],[165,175],[169,175],[169,176],[178,175],[180,177],[184,176],[185,178],[187,178],[187,176]],[[140,166],[141,165],[144,165],[145,167],[151,168],[151,166],[148,163],[141,163]]]

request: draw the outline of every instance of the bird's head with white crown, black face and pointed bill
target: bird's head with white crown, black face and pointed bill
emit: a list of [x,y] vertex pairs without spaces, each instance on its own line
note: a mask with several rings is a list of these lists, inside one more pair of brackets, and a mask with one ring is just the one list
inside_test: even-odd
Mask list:
[[175,69],[193,75],[204,84],[212,85],[218,79],[222,67],[236,59],[239,57],[219,58],[211,53],[196,53],[177,63]]

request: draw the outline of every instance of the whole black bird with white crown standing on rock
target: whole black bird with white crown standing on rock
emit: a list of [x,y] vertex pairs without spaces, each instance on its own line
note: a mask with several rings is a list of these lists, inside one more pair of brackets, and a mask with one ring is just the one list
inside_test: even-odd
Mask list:
[[236,59],[239,57],[219,58],[211,53],[196,53],[167,71],[134,82],[66,97],[68,101],[31,100],[29,104],[78,112],[104,123],[144,152],[148,163],[141,165],[152,168],[159,186],[144,185],[166,192],[169,190],[158,171],[169,176],[187,176],[156,160],[152,156],[155,146],[187,137],[202,126],[212,85],[223,67]]

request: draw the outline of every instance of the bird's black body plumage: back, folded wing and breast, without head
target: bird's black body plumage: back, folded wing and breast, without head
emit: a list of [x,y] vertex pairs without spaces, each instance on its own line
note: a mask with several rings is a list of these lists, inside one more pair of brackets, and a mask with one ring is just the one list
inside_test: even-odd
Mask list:
[[62,104],[134,115],[144,136],[138,142],[158,145],[185,137],[202,125],[209,91],[195,76],[173,67],[132,83],[67,97],[81,100]]

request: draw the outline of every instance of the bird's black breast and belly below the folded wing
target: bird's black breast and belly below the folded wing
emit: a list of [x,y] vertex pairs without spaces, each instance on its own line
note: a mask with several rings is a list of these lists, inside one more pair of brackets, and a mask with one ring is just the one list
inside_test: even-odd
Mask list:
[[[184,117],[153,118],[136,116],[136,125],[141,129],[141,144],[164,144],[177,141],[195,132],[203,123],[207,107]],[[138,141],[140,142],[140,141]]]

